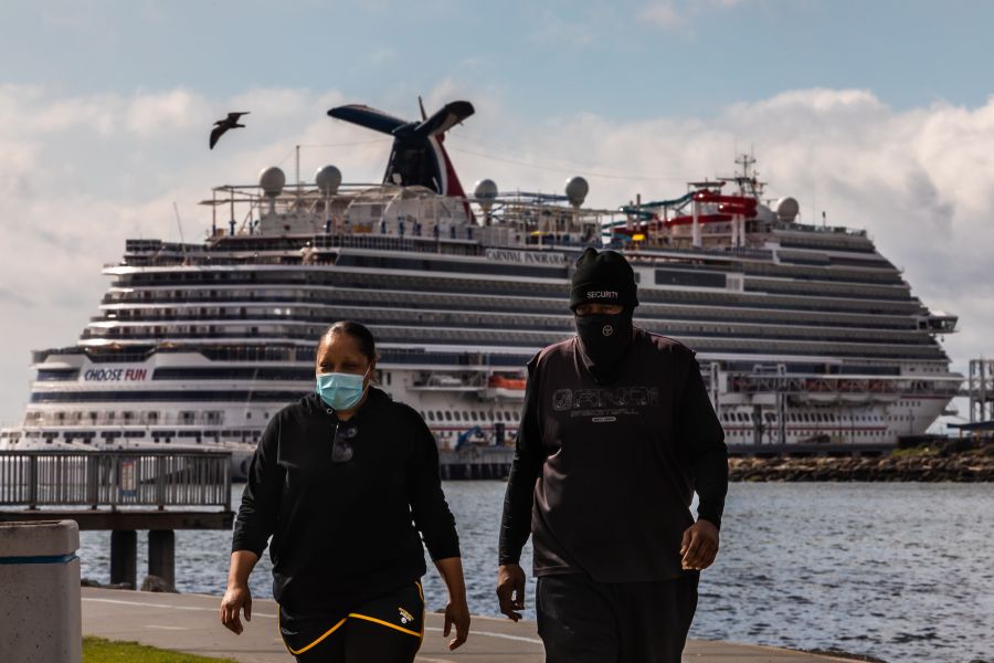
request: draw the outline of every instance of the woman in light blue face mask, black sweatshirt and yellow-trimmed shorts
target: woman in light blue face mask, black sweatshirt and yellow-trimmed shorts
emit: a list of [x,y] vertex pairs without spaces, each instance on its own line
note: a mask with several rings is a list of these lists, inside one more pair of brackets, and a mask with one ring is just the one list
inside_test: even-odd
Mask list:
[[419,530],[448,588],[450,649],[469,630],[434,438],[417,412],[369,386],[376,357],[362,325],[328,328],[316,392],[269,421],[235,518],[221,621],[241,633],[240,612],[251,619],[248,575],[272,536],[279,631],[303,663],[414,660],[424,635]]

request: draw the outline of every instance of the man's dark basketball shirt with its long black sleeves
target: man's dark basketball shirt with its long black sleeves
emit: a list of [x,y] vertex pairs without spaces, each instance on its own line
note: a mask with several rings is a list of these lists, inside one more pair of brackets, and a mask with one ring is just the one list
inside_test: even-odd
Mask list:
[[636,329],[621,361],[598,383],[575,337],[529,361],[500,564],[532,534],[537,576],[666,580],[686,572],[695,491],[699,517],[720,526],[728,453],[694,351]]

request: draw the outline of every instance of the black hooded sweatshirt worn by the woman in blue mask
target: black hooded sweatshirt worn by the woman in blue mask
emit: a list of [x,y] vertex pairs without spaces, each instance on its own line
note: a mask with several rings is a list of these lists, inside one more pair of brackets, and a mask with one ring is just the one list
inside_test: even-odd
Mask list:
[[338,419],[317,394],[266,427],[235,519],[232,550],[273,560],[273,594],[289,611],[334,612],[413,583],[432,559],[459,556],[438,451],[410,407],[373,387],[349,420],[353,455],[331,462]]

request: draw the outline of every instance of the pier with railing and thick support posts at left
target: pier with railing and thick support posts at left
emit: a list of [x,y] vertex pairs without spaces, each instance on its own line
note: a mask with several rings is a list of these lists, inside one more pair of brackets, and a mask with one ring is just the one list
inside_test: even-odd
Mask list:
[[110,532],[110,582],[137,587],[138,530],[148,575],[176,582],[177,529],[225,529],[231,454],[215,451],[0,451],[0,523],[75,520]]

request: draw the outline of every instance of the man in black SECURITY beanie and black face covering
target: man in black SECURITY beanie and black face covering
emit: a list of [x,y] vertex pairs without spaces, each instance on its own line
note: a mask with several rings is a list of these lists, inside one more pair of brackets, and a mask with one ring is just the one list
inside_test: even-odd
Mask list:
[[718,552],[725,434],[694,351],[635,328],[637,305],[624,256],[586,249],[570,292],[577,337],[528,362],[497,596],[520,619],[533,535],[549,663],[678,663]]

